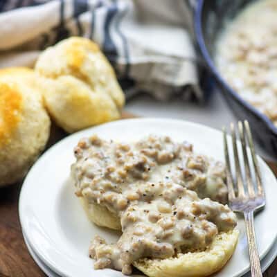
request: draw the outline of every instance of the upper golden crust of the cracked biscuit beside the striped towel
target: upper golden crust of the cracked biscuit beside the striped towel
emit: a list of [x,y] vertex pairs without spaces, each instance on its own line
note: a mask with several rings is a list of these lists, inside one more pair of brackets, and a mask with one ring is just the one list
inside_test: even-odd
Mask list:
[[70,37],[47,48],[39,56],[35,71],[44,78],[61,82],[62,78],[82,82],[91,94],[105,94],[120,109],[125,103],[114,69],[99,46],[84,37]]

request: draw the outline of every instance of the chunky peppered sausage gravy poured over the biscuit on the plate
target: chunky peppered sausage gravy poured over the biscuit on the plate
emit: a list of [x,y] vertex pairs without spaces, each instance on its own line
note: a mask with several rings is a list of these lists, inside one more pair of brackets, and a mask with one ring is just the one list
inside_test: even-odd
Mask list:
[[236,224],[228,206],[211,200],[226,202],[224,166],[194,154],[189,143],[168,136],[136,143],[91,136],[78,143],[75,157],[76,194],[118,215],[123,231],[116,244],[93,240],[96,269],[131,274],[135,260],[206,249]]

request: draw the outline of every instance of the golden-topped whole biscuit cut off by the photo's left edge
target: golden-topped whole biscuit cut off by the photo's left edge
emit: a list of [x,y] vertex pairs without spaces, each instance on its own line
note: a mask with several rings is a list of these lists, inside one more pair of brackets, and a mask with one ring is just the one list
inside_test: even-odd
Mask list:
[[0,70],[0,186],[19,181],[44,149],[50,119],[31,69]]

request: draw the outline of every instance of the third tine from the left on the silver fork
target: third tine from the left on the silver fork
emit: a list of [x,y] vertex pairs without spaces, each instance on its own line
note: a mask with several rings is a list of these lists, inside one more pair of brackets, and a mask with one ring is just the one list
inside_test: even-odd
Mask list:
[[255,196],[255,190],[253,187],[253,182],[251,181],[251,172],[249,167],[248,155],[247,155],[247,143],[245,141],[245,134],[244,134],[244,127],[242,122],[238,122],[238,130],[240,133],[240,141],[242,143],[242,152],[243,152],[243,159],[244,159],[244,166],[245,166],[245,174],[246,174],[246,181],[247,181],[247,188],[250,197]]

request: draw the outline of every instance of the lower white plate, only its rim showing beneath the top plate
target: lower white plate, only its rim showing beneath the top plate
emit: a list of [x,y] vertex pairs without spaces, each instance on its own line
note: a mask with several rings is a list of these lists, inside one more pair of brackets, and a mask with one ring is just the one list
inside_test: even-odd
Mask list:
[[[32,249],[32,247],[30,247],[30,243],[28,242],[24,234],[23,234],[23,238],[28,248],[28,251],[30,253],[30,256],[33,257],[33,259],[35,260],[37,265],[42,269],[42,271],[44,271],[44,273],[48,277],[60,277],[60,275],[57,275],[53,270],[51,270],[47,265],[45,265],[44,262],[42,262],[42,260],[39,259],[35,251]],[[269,265],[271,265],[271,263],[275,260],[276,256],[277,256],[277,243],[274,242],[273,246],[265,256],[265,258],[263,258],[261,261],[262,272],[267,270]],[[251,277],[250,271],[247,274],[244,274],[243,277]]]

